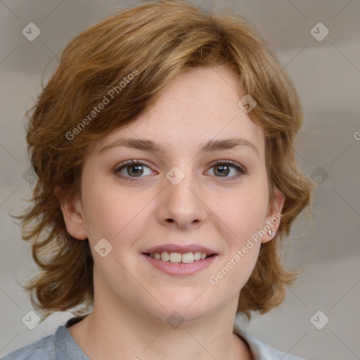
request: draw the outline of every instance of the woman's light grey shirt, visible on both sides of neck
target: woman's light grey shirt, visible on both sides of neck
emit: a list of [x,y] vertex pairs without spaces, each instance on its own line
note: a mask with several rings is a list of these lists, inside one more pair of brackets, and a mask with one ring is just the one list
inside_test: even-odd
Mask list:
[[[2,360],[89,360],[68,331],[68,327],[82,319],[83,317],[73,317],[65,323],[65,326],[59,326],[55,334],[25,345],[6,355]],[[262,340],[240,328],[236,321],[233,332],[248,343],[255,360],[302,360],[269,347]]]

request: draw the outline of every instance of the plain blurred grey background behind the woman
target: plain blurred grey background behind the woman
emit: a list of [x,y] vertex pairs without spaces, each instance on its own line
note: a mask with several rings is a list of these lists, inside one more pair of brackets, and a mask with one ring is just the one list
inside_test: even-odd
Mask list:
[[[41,74],[46,84],[57,65],[56,53],[72,37],[115,8],[136,4],[140,2],[0,1],[2,356],[53,333],[72,316],[53,314],[34,330],[22,322],[32,307],[15,279],[27,280],[37,266],[9,214],[21,210],[30,197],[30,184],[23,176],[30,166],[25,110],[39,94]],[[289,266],[303,269],[300,281],[288,288],[280,307],[254,316],[243,326],[269,345],[304,359],[360,359],[360,133],[356,132],[360,131],[360,1],[202,0],[195,4],[247,15],[276,50],[304,105],[297,161],[319,182],[314,224],[311,228],[302,214],[287,247]],[[41,30],[34,41],[22,34],[30,22]],[[322,41],[310,33],[319,22],[330,31]],[[319,310],[330,319],[321,330],[310,321]],[[321,325],[325,318],[315,319]]]

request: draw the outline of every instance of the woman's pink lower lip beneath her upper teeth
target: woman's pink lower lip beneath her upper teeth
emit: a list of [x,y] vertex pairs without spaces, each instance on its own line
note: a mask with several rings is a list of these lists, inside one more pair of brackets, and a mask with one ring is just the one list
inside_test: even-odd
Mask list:
[[214,255],[212,257],[207,257],[206,259],[201,259],[198,261],[189,262],[188,264],[184,264],[184,262],[163,262],[160,259],[155,259],[145,254],[142,255],[143,257],[146,257],[148,262],[150,262],[151,265],[155,266],[156,269],[159,269],[165,274],[169,274],[172,276],[190,276],[196,274],[199,271],[209,267],[217,257],[217,255]]

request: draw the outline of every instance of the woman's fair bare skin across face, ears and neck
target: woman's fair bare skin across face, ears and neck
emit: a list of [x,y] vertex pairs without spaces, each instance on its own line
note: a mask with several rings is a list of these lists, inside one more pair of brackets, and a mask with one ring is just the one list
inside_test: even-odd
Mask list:
[[[135,122],[94,143],[81,198],[69,199],[57,188],[69,233],[89,238],[94,257],[93,312],[69,328],[89,358],[252,359],[233,334],[233,321],[260,241],[217,284],[209,281],[283,207],[277,188],[269,204],[264,133],[239,108],[244,95],[227,68],[189,70]],[[199,153],[206,141],[231,137],[250,141],[259,154],[250,146]],[[99,152],[123,138],[151,139],[166,152],[119,146]],[[115,171],[131,159],[146,165],[138,177],[131,166]],[[221,176],[216,160],[232,160],[246,173],[236,177],[236,169],[225,167]],[[174,166],[185,174],[177,185],[166,177]],[[261,243],[274,238],[279,224]],[[113,246],[105,257],[94,250],[101,238]],[[141,255],[165,243],[204,245],[218,256],[197,274],[170,276]],[[179,328],[167,323],[173,311],[185,320]]]

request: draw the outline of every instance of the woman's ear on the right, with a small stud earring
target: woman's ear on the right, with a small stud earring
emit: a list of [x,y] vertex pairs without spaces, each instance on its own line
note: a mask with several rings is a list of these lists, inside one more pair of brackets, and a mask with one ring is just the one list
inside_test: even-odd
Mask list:
[[[281,210],[283,210],[283,205],[285,202],[285,195],[278,189],[274,188],[274,200],[269,203],[268,211],[265,217],[265,222],[263,229],[265,235],[262,237],[262,244],[269,243],[276,236],[278,227],[280,226],[281,221]],[[271,230],[272,233],[269,235],[268,231]]]

